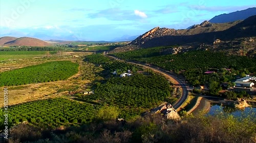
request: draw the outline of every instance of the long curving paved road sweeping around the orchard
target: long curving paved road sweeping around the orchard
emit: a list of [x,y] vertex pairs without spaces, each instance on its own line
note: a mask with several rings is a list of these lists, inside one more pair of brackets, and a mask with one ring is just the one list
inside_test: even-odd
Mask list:
[[[114,56],[111,56],[111,55],[108,55],[108,56],[110,56],[111,58],[114,58],[115,60],[119,60],[119,59],[117,59]],[[123,60],[119,60],[119,61],[123,61]],[[181,97],[173,105],[173,107],[175,109],[178,109],[186,101],[187,96],[188,96],[188,90],[191,90],[191,89],[189,88],[189,86],[185,82],[183,82],[184,80],[178,78],[174,73],[171,73],[171,72],[169,72],[169,71],[167,71],[165,69],[162,69],[162,68],[159,68],[159,67],[156,67],[156,66],[147,66],[147,65],[145,65],[143,63],[140,63],[140,62],[137,62],[137,61],[129,61],[127,63],[137,64],[137,65],[140,65],[140,66],[143,66],[143,67],[147,67],[147,68],[156,70],[156,71],[158,71],[158,72],[160,72],[160,73],[162,73],[164,75],[168,75],[168,76],[172,77],[173,79],[175,79],[177,81],[177,83],[178,83],[178,85],[176,85],[176,86],[180,86],[181,87],[181,92],[182,92]]]

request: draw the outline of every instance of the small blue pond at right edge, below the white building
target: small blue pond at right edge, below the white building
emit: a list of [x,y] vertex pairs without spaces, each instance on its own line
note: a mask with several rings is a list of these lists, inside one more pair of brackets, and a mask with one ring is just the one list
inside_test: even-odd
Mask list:
[[221,105],[213,104],[210,107],[208,114],[214,115],[215,113],[219,113],[219,112],[230,113],[231,115],[236,116],[236,117],[248,116],[248,115],[255,116],[256,108],[245,107],[242,109],[238,109],[236,107],[221,106]]

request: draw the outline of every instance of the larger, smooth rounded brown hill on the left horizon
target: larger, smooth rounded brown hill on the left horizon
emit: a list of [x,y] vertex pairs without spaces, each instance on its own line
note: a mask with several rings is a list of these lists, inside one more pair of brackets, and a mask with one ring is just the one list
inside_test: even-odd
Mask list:
[[30,37],[21,37],[16,40],[10,41],[5,43],[4,45],[7,46],[52,46],[51,44],[36,39],[36,38],[30,38]]

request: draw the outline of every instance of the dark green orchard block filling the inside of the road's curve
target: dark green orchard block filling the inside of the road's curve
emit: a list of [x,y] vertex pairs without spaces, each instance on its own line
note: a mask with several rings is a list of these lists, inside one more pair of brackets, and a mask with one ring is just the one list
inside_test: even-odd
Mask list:
[[160,75],[135,74],[131,77],[113,77],[100,84],[95,94],[78,97],[91,104],[119,107],[120,118],[131,118],[172,98],[168,81]]

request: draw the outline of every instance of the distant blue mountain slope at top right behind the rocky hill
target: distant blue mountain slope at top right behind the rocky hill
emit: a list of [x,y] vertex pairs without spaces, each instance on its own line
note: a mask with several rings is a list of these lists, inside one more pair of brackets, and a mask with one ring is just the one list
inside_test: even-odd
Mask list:
[[246,10],[236,11],[229,14],[221,14],[210,19],[211,23],[226,23],[237,20],[244,20],[250,16],[256,15],[256,8],[249,8]]

